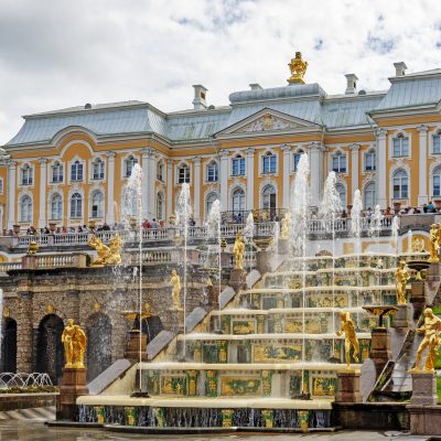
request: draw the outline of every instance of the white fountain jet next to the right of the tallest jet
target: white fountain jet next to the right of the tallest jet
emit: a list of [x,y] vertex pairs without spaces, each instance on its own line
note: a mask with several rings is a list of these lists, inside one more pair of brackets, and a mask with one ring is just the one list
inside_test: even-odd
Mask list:
[[[342,202],[336,191],[336,174],[330,172],[324,183],[323,200],[320,215],[324,220],[327,233],[332,234],[332,333],[335,335],[335,217],[342,209]],[[332,353],[335,353],[335,338],[332,338]]]

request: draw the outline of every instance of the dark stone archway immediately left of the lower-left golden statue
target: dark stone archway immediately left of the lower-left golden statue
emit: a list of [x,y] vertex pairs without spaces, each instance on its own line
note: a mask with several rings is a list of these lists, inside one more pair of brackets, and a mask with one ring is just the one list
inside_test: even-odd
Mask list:
[[61,384],[63,376],[63,320],[56,314],[47,314],[41,320],[36,331],[35,370],[49,374],[56,385]]

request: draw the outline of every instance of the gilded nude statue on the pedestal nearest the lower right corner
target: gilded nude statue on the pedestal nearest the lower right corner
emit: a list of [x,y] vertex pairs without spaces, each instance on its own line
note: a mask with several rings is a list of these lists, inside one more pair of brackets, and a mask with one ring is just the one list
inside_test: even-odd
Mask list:
[[426,308],[423,315],[424,324],[421,327],[418,327],[416,331],[418,333],[424,333],[424,337],[418,347],[415,367],[409,372],[420,370],[422,353],[424,352],[426,347],[428,347],[428,354],[422,370],[433,373],[438,355],[438,345],[440,344],[441,319],[435,316],[430,308]]

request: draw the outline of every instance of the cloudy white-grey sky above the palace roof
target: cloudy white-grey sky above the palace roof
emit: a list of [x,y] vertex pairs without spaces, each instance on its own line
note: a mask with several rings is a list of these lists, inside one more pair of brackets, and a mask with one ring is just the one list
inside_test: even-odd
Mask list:
[[0,0],[0,146],[22,115],[130,99],[163,111],[287,85],[295,51],[306,83],[387,89],[394,62],[441,67],[440,0]]

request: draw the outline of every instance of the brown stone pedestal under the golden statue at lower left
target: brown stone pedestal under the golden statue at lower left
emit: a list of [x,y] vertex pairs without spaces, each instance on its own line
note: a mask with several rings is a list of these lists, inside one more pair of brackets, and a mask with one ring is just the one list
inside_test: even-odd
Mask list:
[[56,419],[74,421],[76,417],[76,399],[88,395],[86,386],[86,368],[64,368],[60,388],[60,399],[56,404]]

